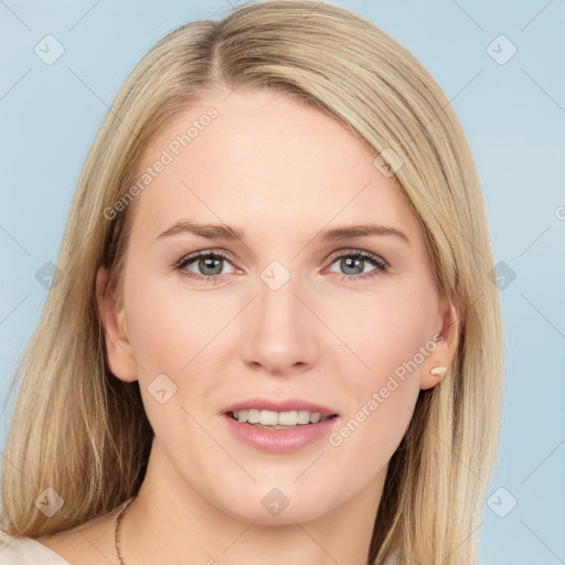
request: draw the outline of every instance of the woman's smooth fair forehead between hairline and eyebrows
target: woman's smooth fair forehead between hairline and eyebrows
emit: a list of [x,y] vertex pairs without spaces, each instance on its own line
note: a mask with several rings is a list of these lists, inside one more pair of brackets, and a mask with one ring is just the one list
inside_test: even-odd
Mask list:
[[342,124],[267,89],[225,96],[191,105],[150,140],[136,175],[150,182],[137,196],[135,223],[164,230],[190,217],[284,233],[382,221],[418,230],[374,153]]

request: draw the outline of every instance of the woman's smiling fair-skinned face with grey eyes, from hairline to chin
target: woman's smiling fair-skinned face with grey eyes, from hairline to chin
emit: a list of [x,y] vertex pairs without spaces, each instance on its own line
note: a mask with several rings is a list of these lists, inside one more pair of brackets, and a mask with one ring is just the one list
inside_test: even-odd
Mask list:
[[[376,509],[429,369],[455,347],[392,180],[343,126],[257,89],[174,117],[138,173],[124,301],[103,306],[162,481],[257,523]],[[291,427],[236,422],[242,403]],[[313,412],[334,416],[296,425]]]

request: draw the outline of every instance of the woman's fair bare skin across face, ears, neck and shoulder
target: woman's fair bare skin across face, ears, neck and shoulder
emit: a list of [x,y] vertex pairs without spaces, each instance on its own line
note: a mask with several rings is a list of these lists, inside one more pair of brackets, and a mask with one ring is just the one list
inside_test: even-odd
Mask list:
[[[437,292],[416,217],[350,130],[281,94],[225,96],[191,106],[147,146],[140,171],[209,106],[218,110],[136,198],[122,300],[105,292],[108,273],[98,273],[110,370],[139,380],[156,434],[122,522],[126,562],[363,563],[388,460],[419,391],[439,382],[429,370],[454,359],[458,312]],[[227,224],[246,238],[158,238],[181,218]],[[317,238],[366,223],[395,227],[409,244],[394,235]],[[215,284],[173,267],[214,249],[228,254]],[[388,266],[363,279],[379,267],[332,258],[358,249]],[[277,290],[260,277],[273,260],[290,276]],[[214,273],[198,260],[186,270]],[[435,351],[339,446],[324,437],[266,454],[236,439],[221,415],[255,396],[299,397],[338,412],[339,430],[436,333]],[[162,373],[177,386],[164,404],[148,392]],[[273,488],[289,501],[277,516],[262,504]],[[115,518],[39,541],[72,563],[115,563]]]

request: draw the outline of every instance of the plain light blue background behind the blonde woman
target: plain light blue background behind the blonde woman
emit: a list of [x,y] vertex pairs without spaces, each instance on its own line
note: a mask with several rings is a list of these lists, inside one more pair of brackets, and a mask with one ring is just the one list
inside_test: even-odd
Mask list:
[[[489,494],[505,489],[493,497],[499,513],[510,497],[518,504],[505,518],[486,504],[480,563],[564,563],[565,209],[558,206],[565,206],[565,4],[331,3],[406,45],[454,98],[483,182],[497,260],[516,275],[502,290],[508,382]],[[35,273],[56,259],[74,186],[107,106],[157,40],[230,8],[221,1],[0,1],[2,396],[46,296]],[[34,53],[47,34],[65,49],[51,66]],[[500,34],[518,47],[504,65],[487,52]],[[0,447],[9,416],[10,409]]]

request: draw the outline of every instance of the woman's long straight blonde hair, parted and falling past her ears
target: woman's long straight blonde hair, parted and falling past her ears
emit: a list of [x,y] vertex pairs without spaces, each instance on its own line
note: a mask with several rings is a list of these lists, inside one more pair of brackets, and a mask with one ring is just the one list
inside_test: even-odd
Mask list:
[[[420,391],[393,455],[367,563],[475,563],[482,501],[498,449],[502,321],[480,182],[449,100],[423,65],[371,22],[309,0],[244,6],[162,39],[119,90],[85,162],[58,276],[12,387],[21,388],[3,461],[2,526],[12,535],[70,530],[134,495],[152,430],[138,383],[111,375],[95,279],[118,288],[127,248],[124,196],[151,136],[215,88],[266,87],[338,119],[375,154],[419,218],[438,289],[460,307],[455,362]],[[34,504],[46,488],[64,505]]]

